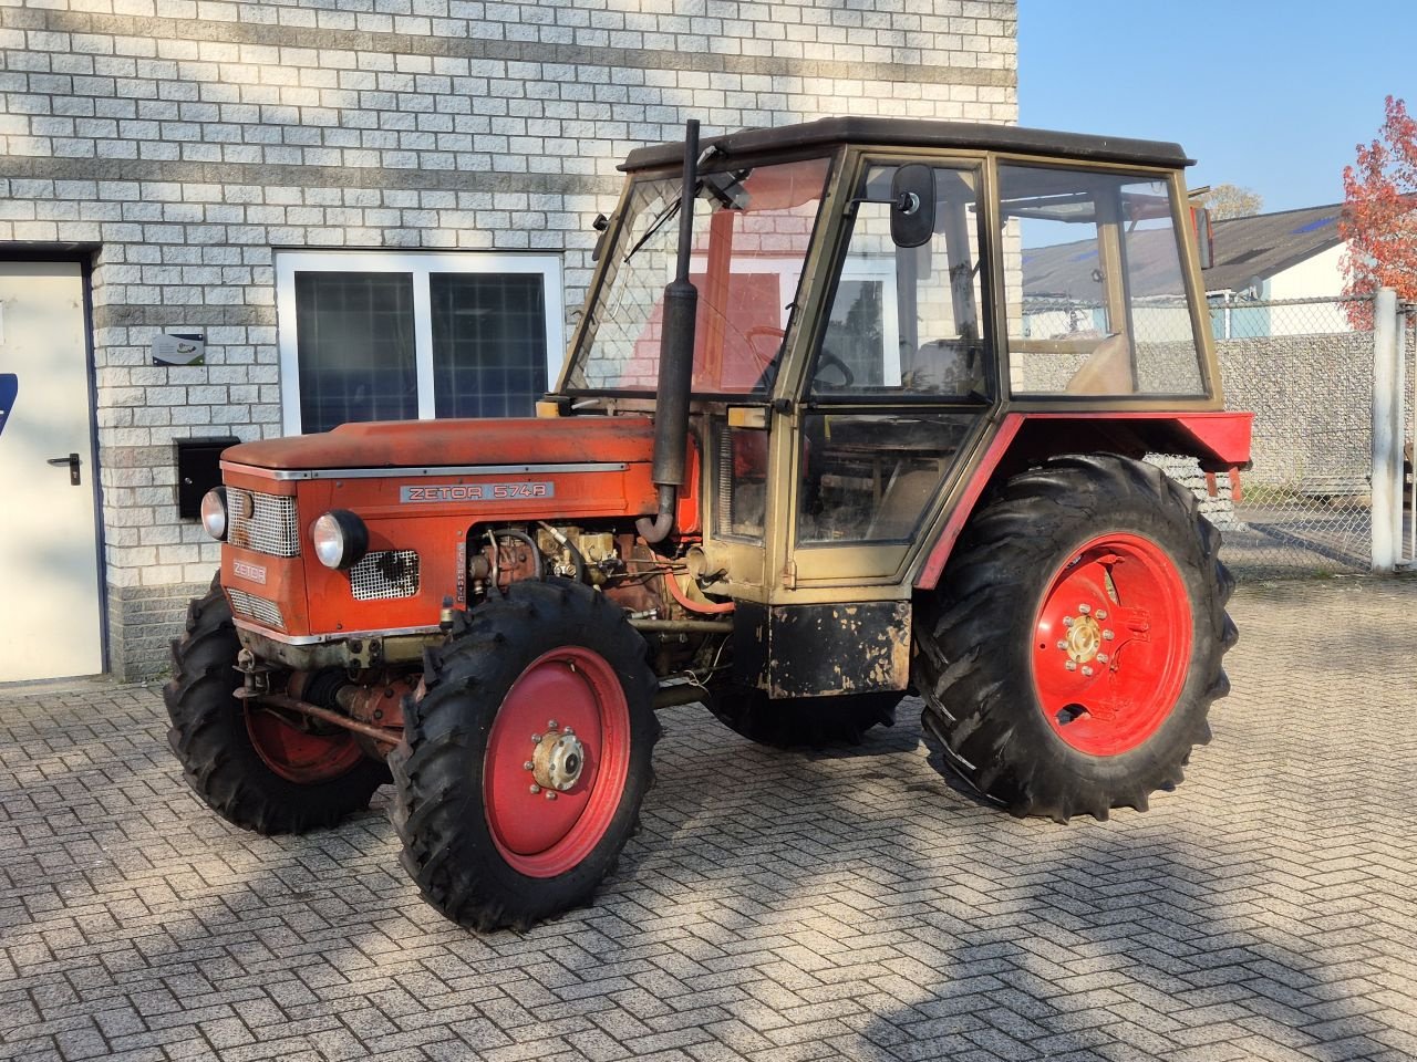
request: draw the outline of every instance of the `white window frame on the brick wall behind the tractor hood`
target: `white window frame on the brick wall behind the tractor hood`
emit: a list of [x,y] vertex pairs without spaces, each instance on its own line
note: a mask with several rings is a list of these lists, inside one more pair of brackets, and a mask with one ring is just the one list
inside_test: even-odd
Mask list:
[[281,365],[281,429],[300,435],[300,362],[296,334],[296,273],[407,273],[414,283],[414,372],[418,419],[436,419],[434,398],[434,273],[540,275],[546,304],[546,382],[565,361],[565,286],[560,255],[486,251],[281,251],[275,252],[276,350]]

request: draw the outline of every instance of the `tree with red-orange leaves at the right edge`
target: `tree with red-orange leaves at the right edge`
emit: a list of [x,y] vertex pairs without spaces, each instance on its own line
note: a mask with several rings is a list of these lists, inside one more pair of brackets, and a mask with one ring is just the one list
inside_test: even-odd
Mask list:
[[[1391,287],[1401,302],[1417,302],[1417,120],[1396,96],[1386,102],[1377,139],[1357,144],[1357,160],[1343,167],[1339,232],[1345,295],[1372,297]],[[1352,303],[1355,327],[1372,327],[1372,303]]]

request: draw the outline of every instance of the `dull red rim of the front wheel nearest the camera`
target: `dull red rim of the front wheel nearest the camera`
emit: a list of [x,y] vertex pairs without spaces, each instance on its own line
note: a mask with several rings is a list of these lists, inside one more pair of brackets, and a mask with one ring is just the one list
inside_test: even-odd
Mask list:
[[[568,728],[584,765],[571,789],[548,797],[527,763],[541,735]],[[578,646],[533,660],[497,709],[483,760],[482,796],[502,858],[529,878],[574,869],[609,830],[626,777],[629,705],[611,666]]]

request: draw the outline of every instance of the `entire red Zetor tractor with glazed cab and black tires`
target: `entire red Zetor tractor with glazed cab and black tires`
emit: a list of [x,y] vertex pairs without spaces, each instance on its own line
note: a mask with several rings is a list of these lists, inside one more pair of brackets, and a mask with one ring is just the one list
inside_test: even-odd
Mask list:
[[1144,809],[1209,738],[1219,535],[1141,459],[1248,457],[1175,144],[832,119],[642,149],[534,419],[245,443],[166,690],[259,831],[393,780],[448,918],[585,902],[655,709],[859,739],[924,701],[1019,816]]

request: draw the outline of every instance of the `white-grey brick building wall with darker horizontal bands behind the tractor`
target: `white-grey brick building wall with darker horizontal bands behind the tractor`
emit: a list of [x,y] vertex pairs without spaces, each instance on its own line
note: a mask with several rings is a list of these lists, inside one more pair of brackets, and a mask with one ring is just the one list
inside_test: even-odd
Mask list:
[[[0,241],[95,248],[115,668],[146,667],[125,616],[170,626],[162,588],[217,564],[177,520],[173,439],[279,432],[273,248],[553,251],[574,309],[632,147],[690,116],[1013,122],[1015,20],[1015,0],[0,7]],[[205,333],[207,364],[153,367],[163,330]]]

